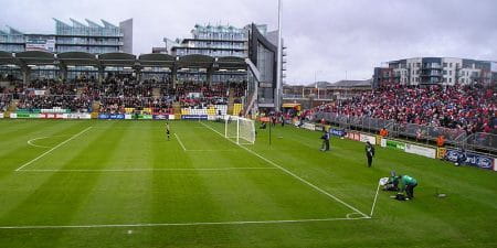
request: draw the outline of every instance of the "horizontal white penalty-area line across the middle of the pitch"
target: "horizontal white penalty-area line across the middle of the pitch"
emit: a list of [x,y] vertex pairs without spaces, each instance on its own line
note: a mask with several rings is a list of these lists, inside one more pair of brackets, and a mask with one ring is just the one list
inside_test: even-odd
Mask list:
[[276,168],[144,168],[144,169],[28,169],[21,172],[140,172],[140,171],[237,171],[237,170],[276,170]]

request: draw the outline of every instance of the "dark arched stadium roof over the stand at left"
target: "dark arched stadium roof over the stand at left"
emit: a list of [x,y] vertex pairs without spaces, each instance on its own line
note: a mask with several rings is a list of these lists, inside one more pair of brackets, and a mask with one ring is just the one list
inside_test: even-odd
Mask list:
[[53,54],[40,51],[9,53],[0,51],[0,65],[57,65],[63,66],[134,66],[134,67],[218,67],[224,69],[245,68],[242,57],[212,57],[208,55],[171,56],[168,54],[104,53],[94,55],[84,52]]

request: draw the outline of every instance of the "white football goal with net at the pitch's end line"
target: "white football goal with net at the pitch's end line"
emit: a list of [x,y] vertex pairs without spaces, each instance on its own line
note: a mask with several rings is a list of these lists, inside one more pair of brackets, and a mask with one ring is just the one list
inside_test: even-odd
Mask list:
[[224,137],[228,139],[235,139],[237,144],[254,144],[255,123],[251,119],[237,116],[226,116]]

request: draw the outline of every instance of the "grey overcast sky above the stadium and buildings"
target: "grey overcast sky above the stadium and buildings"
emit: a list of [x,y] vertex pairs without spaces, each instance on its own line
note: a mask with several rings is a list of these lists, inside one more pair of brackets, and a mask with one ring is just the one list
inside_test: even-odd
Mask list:
[[[416,56],[497,61],[497,0],[283,0],[289,84],[370,78],[382,62]],[[195,23],[277,25],[277,0],[0,0],[0,26],[54,32],[57,18],[134,19],[134,53]],[[346,73],[347,72],[347,73]]]

